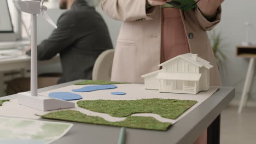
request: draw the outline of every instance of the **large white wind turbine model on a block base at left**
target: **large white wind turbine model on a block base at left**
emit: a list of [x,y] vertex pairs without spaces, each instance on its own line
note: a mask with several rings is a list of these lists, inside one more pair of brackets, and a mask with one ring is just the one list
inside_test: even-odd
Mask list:
[[47,8],[43,5],[44,1],[14,1],[16,8],[25,13],[31,14],[31,93],[18,93],[18,103],[32,107],[41,111],[57,109],[67,109],[74,107],[75,104],[69,101],[53,99],[38,95],[37,93],[37,15],[43,13],[43,17],[55,28],[57,26],[46,13]]

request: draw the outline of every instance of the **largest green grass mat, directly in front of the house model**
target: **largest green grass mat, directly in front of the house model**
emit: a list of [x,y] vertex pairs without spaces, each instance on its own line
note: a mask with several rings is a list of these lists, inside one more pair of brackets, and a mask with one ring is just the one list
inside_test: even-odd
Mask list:
[[196,103],[194,100],[142,99],[83,100],[77,104],[84,109],[107,113],[113,117],[127,117],[133,113],[155,113],[164,118],[176,119]]

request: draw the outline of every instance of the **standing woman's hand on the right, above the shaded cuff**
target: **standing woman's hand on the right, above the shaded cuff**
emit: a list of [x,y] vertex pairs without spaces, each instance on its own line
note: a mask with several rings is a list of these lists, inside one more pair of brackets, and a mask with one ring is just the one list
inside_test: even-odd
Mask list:
[[203,15],[214,15],[223,2],[224,0],[201,0],[197,3],[197,7]]

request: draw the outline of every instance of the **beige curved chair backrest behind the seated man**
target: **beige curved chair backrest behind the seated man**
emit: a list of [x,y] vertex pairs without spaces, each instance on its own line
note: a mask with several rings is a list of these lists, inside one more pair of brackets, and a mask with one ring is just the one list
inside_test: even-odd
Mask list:
[[92,70],[92,80],[110,81],[113,58],[113,49],[106,50],[98,56],[94,64],[94,69]]

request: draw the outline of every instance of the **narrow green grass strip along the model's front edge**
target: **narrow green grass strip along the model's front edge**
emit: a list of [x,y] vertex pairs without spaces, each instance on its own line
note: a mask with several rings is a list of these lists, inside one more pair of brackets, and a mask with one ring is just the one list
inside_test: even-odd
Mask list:
[[[38,116],[38,115],[37,115]],[[153,117],[127,117],[121,122],[108,122],[101,117],[88,116],[79,111],[57,111],[40,116],[48,119],[57,119],[62,121],[91,123],[101,125],[113,125],[118,127],[138,128],[138,129],[150,129],[150,130],[167,130],[171,123],[162,123]]]

